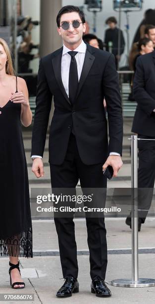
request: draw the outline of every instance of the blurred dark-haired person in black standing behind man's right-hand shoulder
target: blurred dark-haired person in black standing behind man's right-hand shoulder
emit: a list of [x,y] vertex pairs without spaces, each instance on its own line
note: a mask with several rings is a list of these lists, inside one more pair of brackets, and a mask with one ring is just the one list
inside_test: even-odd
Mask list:
[[[105,24],[109,26],[109,28],[105,31],[104,43],[106,45],[106,51],[111,51],[111,53],[115,57],[116,68],[118,68],[118,62],[120,60],[120,56],[124,52],[125,41],[123,32],[119,29],[117,25],[117,20],[115,17],[109,17],[106,19]],[[118,35],[120,31],[120,50],[118,50]]]

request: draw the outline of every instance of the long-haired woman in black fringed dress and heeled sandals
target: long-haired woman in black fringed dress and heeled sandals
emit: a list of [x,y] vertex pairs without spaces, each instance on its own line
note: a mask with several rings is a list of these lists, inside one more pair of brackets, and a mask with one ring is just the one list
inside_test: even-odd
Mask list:
[[0,38],[0,254],[9,256],[12,288],[24,288],[18,257],[32,257],[29,184],[21,122],[32,121],[26,82],[16,77]]

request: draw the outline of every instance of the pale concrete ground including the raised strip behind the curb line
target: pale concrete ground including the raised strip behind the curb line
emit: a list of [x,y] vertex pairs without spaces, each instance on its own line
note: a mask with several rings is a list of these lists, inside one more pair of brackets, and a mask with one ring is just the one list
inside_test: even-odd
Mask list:
[[[20,258],[21,273],[26,288],[15,291],[9,286],[8,258],[0,259],[0,294],[34,294],[35,301],[25,303],[109,303],[109,304],[153,304],[155,287],[122,288],[110,286],[113,279],[131,278],[131,230],[125,219],[105,219],[108,245],[108,265],[105,281],[112,292],[108,299],[97,298],[90,292],[90,264],[85,219],[75,219],[80,284],[79,294],[66,299],[55,297],[63,285],[58,242],[53,220],[34,220],[34,258]],[[155,278],[155,219],[148,218],[139,232],[139,277]],[[2,302],[5,303],[5,302]],[[9,303],[23,303],[10,301]]]

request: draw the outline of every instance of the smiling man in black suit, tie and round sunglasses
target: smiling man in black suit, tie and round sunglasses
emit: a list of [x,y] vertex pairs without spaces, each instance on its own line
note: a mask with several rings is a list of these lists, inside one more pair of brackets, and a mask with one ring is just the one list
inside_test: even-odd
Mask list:
[[[41,158],[53,96],[54,114],[49,138],[52,189],[70,188],[75,194],[79,179],[83,189],[103,189],[106,188],[103,170],[111,165],[113,176],[117,176],[122,165],[123,121],[114,57],[83,42],[85,16],[78,7],[62,7],[56,22],[63,47],[40,61],[32,137],[32,171],[37,177],[44,176]],[[108,113],[109,146],[103,97]],[[66,279],[56,294],[61,298],[79,291],[73,216],[62,218],[54,215],[62,273]],[[104,282],[107,264],[104,218],[86,217],[86,224],[91,291],[97,296],[107,297],[111,292]]]

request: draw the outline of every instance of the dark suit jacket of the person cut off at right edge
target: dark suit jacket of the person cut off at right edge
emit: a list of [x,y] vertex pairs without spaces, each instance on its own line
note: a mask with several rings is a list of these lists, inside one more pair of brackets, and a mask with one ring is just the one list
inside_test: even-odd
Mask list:
[[155,136],[155,51],[142,55],[136,62],[133,93],[138,105],[132,132]]

